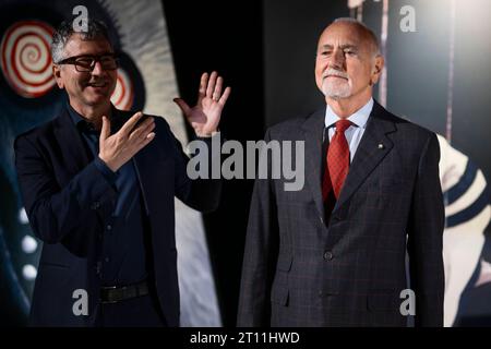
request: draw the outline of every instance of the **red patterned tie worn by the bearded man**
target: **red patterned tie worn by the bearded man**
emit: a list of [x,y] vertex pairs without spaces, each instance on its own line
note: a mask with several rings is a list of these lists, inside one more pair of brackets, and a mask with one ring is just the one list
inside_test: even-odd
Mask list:
[[[327,167],[322,185],[323,198],[327,197],[331,189],[334,191],[336,200],[343,189],[349,169],[349,146],[346,141],[345,131],[351,125],[348,120],[336,122],[336,132],[330,142],[327,149]],[[331,179],[331,180],[330,180]]]

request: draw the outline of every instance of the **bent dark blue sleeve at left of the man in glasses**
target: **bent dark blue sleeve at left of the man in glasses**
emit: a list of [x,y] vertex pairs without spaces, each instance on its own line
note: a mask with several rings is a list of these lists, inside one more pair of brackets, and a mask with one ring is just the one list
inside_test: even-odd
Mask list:
[[15,140],[15,167],[24,206],[34,233],[47,243],[94,231],[94,210],[116,197],[108,173],[96,158],[60,188],[47,155],[27,135]]

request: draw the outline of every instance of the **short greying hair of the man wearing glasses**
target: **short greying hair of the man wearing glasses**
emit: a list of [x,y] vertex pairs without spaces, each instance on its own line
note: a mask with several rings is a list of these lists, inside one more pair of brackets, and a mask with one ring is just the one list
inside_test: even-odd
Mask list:
[[63,21],[52,35],[51,58],[55,63],[59,63],[64,59],[63,50],[70,37],[73,34],[80,34],[83,40],[93,40],[96,38],[105,38],[111,47],[113,47],[106,24],[98,20],[87,19],[87,29],[80,32],[73,28],[72,21]]

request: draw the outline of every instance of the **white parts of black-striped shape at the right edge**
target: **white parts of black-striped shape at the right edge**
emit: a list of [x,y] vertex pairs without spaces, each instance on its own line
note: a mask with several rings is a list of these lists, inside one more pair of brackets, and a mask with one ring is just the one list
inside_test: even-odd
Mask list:
[[[466,170],[468,157],[453,148],[443,136],[439,135],[438,139],[441,153],[440,179],[443,191],[447,191],[460,180]],[[478,197],[478,194],[482,193],[486,188],[486,180],[475,181],[475,183],[476,185],[472,184],[469,188],[469,191],[472,191],[472,193],[464,193],[462,197],[448,206],[451,212],[457,213],[467,208],[469,198]],[[474,193],[475,191],[478,194]],[[460,225],[445,228],[443,234],[443,263],[445,267],[443,322],[445,327],[452,326],[455,322],[460,296],[479,263],[484,245],[484,229],[490,219],[491,206],[488,205],[471,219]]]

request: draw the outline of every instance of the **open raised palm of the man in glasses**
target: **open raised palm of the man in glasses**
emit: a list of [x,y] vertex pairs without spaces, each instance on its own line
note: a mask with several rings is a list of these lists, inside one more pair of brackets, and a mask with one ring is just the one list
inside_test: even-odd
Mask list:
[[194,107],[191,108],[182,98],[173,99],[197,136],[211,136],[218,129],[221,110],[230,95],[230,87],[221,94],[223,85],[224,79],[217,72],[213,72],[209,79],[208,73],[203,73]]

